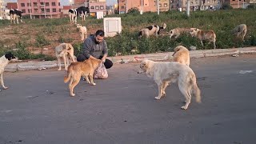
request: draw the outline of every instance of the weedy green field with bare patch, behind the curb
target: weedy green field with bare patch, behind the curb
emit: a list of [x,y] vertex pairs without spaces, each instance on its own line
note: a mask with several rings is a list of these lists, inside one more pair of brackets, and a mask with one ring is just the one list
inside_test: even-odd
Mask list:
[[[224,7],[224,6],[222,6]],[[176,10],[162,12],[159,15],[153,12],[139,14],[137,10],[130,10],[130,14],[115,14],[110,17],[122,18],[122,34],[118,34],[113,38],[106,38],[109,48],[109,55],[114,56],[117,53],[123,55],[131,54],[131,50],[138,50],[138,54],[155,53],[173,51],[178,45],[190,47],[196,46],[198,50],[213,49],[212,43],[202,47],[197,38],[189,35],[181,35],[177,39],[170,39],[166,32],[176,27],[196,27],[202,30],[214,30],[217,35],[217,49],[226,49],[233,47],[256,46],[256,17],[255,9],[246,10],[216,10],[216,11],[194,11],[187,17],[185,12]],[[82,50],[82,42],[79,37],[74,38],[74,34],[78,34],[75,26],[70,28],[68,18],[56,19],[25,19],[26,24],[31,30],[37,31],[34,41],[32,36],[23,34],[22,43],[15,46],[6,46],[5,42],[0,41],[0,54],[6,50],[18,49],[16,54],[18,58],[41,58],[42,54],[28,54],[27,46],[42,48],[44,46],[55,45],[60,42],[71,42],[74,46],[74,53],[78,55]],[[31,21],[31,22],[30,22]],[[150,25],[162,25],[166,23],[166,30],[162,30],[159,38],[151,36],[150,38],[138,38],[138,31]],[[78,23],[82,23],[78,18]],[[234,29],[238,24],[245,23],[248,31],[245,42],[239,38],[235,38],[230,34],[230,30]],[[90,30],[89,34],[93,34],[95,30],[103,28],[102,19],[87,18],[86,23],[82,23]],[[10,25],[9,21],[0,21],[0,28]],[[14,26],[11,33],[19,34],[20,27]],[[27,30],[28,31],[28,30]],[[29,32],[27,32],[29,33]],[[24,38],[23,38],[24,37]],[[52,46],[52,47],[54,47]]]

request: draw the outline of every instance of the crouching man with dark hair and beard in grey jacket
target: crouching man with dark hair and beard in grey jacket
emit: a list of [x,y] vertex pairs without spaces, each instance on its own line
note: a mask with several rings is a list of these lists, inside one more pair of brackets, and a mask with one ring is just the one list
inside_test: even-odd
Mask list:
[[78,62],[83,62],[88,58],[91,59],[102,59],[106,69],[109,69],[113,66],[113,62],[107,57],[107,45],[104,40],[104,31],[97,30],[94,35],[91,35],[89,38],[86,38],[85,42],[83,42],[83,50],[82,54],[78,55]]

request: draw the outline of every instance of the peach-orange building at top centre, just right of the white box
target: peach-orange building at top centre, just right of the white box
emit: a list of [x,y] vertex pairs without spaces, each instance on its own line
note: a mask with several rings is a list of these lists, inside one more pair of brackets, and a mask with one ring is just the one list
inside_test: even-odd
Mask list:
[[[131,8],[138,8],[142,12],[156,12],[157,0],[118,0],[119,14],[127,13]],[[170,10],[170,0],[159,0],[159,11]]]

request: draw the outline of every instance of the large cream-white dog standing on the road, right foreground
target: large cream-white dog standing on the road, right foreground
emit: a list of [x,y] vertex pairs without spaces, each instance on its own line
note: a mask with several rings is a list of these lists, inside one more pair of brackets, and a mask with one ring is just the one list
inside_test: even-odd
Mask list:
[[139,73],[145,72],[148,77],[153,77],[154,82],[158,84],[158,96],[155,99],[160,99],[166,95],[166,86],[169,82],[177,82],[178,88],[186,98],[186,105],[182,106],[186,110],[190,104],[191,92],[195,95],[196,102],[201,102],[201,92],[198,88],[196,77],[193,70],[189,66],[182,65],[178,62],[154,62],[144,60],[140,64]]

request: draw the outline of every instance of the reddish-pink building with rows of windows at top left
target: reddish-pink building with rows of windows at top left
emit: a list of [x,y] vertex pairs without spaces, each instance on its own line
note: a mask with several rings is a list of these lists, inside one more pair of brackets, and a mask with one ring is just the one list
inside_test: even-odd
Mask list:
[[18,10],[32,18],[60,18],[61,14],[60,0],[18,0]]

